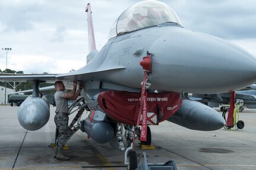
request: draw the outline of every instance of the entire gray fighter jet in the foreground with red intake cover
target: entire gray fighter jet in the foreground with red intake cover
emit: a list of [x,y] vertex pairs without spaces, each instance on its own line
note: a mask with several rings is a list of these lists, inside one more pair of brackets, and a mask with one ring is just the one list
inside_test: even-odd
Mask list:
[[141,1],[122,12],[99,51],[90,4],[86,12],[90,41],[86,66],[58,75],[0,77],[34,82],[33,96],[18,110],[25,129],[40,129],[49,119],[49,105],[38,97],[40,82],[83,82],[83,98],[76,102],[84,100],[79,108],[90,110],[90,116],[79,123],[81,130],[96,142],[125,150],[125,164],[135,169],[134,139],[151,143],[149,124],[167,120],[193,130],[217,130],[226,124],[207,105],[184,100],[182,92],[216,94],[256,82],[254,56],[229,41],[182,27],[175,12],[162,2]]

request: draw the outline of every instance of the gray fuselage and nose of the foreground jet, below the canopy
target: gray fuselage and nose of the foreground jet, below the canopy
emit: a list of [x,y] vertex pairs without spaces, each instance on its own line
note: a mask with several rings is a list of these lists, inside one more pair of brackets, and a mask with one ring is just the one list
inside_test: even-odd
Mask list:
[[57,78],[141,88],[140,61],[147,51],[152,54],[151,89],[213,94],[241,89],[256,80],[256,59],[245,50],[170,23],[116,36],[88,65]]

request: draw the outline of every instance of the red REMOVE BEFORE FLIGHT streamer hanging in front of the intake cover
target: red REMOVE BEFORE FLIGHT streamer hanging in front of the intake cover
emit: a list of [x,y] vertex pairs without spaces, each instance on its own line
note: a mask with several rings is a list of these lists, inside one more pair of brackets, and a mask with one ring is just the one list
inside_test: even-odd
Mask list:
[[[147,71],[144,72],[144,78],[142,83],[141,89],[141,101],[140,101],[140,111],[138,113],[137,118],[137,126],[140,125],[141,121],[141,131],[140,131],[140,140],[147,141],[147,89],[146,89],[146,82],[147,82]],[[141,118],[142,116],[142,118]]]

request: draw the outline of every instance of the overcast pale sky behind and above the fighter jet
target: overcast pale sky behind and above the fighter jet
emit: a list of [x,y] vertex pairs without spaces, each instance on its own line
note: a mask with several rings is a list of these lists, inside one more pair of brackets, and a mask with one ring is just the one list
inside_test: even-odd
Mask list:
[[[0,1],[0,69],[25,73],[65,73],[86,65],[86,5],[81,0]],[[92,0],[96,48],[108,41],[122,11],[140,1]],[[182,25],[232,41],[256,57],[256,1],[166,0]]]

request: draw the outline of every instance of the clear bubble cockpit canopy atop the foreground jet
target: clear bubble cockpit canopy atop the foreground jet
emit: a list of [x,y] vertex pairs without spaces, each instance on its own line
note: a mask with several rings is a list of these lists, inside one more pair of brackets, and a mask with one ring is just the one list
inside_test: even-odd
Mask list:
[[181,21],[168,5],[159,1],[142,1],[126,9],[113,23],[109,39],[116,35],[151,27],[162,23]]

